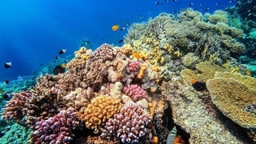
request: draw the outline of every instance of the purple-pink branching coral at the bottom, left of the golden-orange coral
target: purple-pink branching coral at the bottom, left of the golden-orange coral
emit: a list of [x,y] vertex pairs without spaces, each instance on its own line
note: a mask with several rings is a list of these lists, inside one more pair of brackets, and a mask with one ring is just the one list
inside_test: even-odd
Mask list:
[[78,127],[74,108],[60,111],[54,117],[36,122],[32,134],[34,143],[68,143],[74,137],[72,130]]

